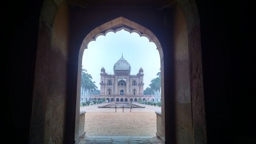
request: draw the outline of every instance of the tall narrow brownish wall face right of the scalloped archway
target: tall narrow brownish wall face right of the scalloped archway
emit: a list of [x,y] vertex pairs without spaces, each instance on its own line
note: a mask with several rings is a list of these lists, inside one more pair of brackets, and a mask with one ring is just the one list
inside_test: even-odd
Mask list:
[[174,10],[176,142],[194,143],[189,83],[188,34],[181,9]]

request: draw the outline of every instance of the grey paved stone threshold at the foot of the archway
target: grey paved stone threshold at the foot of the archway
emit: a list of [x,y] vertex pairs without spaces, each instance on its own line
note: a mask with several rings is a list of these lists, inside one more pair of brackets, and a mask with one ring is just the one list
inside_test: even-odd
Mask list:
[[138,144],[161,143],[161,140],[155,136],[86,136],[78,142],[78,144],[86,143]]

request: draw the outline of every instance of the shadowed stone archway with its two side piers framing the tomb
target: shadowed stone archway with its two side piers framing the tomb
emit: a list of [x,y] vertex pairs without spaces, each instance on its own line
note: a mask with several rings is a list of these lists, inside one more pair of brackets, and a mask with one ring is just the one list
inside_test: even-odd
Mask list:
[[[161,36],[165,54],[165,57],[161,57],[161,77],[165,77],[161,78],[161,82],[164,84],[165,79],[166,82],[174,81],[173,89],[169,86],[163,86],[162,89],[165,89],[165,91],[162,90],[161,92],[165,94],[165,97],[162,95],[163,126],[161,128],[163,138],[167,142],[206,143],[200,25],[197,7],[195,1],[185,0],[177,1],[177,3],[172,5],[174,39],[164,39],[163,37],[165,36]],[[118,20],[107,22],[107,25],[103,24],[105,27],[98,27],[91,32],[88,31],[88,35],[84,39],[78,53],[77,46],[69,46],[69,42],[72,41],[69,40],[70,31],[68,26],[71,20],[68,15],[69,7],[67,1],[58,1],[58,4],[55,4],[55,1],[51,1],[50,3],[49,1],[45,1],[41,9],[35,64],[30,143],[51,142],[51,136],[55,136],[57,133],[60,136],[55,136],[55,140],[60,141],[60,143],[63,140],[69,143],[79,137],[80,60],[83,50],[87,49],[87,44],[97,34],[111,30],[114,27],[129,26],[142,32],[143,35],[149,36],[153,41],[156,39],[156,36],[148,29],[144,27],[140,29],[137,27],[137,23],[133,23],[133,21],[127,22],[127,20],[119,18]],[[94,25],[99,25],[99,22],[95,22]],[[150,26],[150,23],[148,25]],[[165,30],[172,29],[167,25],[165,27],[163,28]],[[179,29],[176,29],[178,27]],[[158,28],[159,30],[155,30],[154,33],[161,30],[161,27]],[[160,36],[161,33],[158,35]],[[186,39],[185,43],[183,43],[184,38]],[[174,41],[172,47],[166,46],[168,40]],[[77,41],[73,43],[77,43]],[[77,56],[78,58],[76,58]],[[173,59],[168,58],[169,56],[173,56]],[[78,65],[74,64],[75,61],[78,61]],[[165,69],[163,69],[163,65],[165,65]],[[44,69],[41,67],[44,67]],[[179,73],[180,71],[182,73]],[[183,75],[183,72],[186,74]],[[49,88],[51,88],[50,93],[47,92]],[[172,90],[174,93],[172,93]],[[185,94],[182,95],[181,93]],[[72,95],[77,95],[77,97],[72,97]],[[173,102],[175,105],[166,105],[166,102]],[[57,107],[56,105],[52,105],[52,103],[60,103],[61,105]],[[47,108],[45,108],[45,105],[47,105]],[[60,107],[62,112],[59,110]],[[69,109],[70,107],[75,107],[76,109]],[[174,109],[175,111],[173,111]],[[191,113],[192,111],[193,113]],[[58,114],[56,115],[55,113]],[[67,118],[66,121],[64,121],[64,118]],[[42,119],[42,121],[38,121],[38,119]],[[50,119],[50,123],[46,125],[48,119]],[[55,119],[56,122],[53,123],[51,119]],[[165,125],[165,121],[168,124]],[[53,125],[56,123],[58,125]],[[173,129],[173,126],[175,126],[175,129]],[[63,131],[63,128],[65,131]]]

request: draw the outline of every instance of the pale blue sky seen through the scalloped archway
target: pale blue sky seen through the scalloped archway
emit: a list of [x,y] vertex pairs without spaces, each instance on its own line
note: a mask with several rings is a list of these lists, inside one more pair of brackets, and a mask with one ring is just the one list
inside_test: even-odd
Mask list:
[[116,33],[109,32],[105,36],[98,36],[88,44],[82,57],[82,68],[91,74],[96,86],[100,89],[100,69],[114,74],[113,66],[122,57],[131,65],[131,75],[136,75],[140,67],[144,70],[144,89],[149,87],[151,80],[160,71],[160,56],[154,42],[140,37],[137,33],[125,30]]

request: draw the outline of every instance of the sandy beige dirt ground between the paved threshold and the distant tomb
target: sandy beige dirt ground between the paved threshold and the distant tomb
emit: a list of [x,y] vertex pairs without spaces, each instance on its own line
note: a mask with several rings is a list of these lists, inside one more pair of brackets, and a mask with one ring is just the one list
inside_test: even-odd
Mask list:
[[[102,105],[102,104],[100,104]],[[88,136],[156,136],[156,113],[160,107],[115,109],[98,108],[100,105],[80,107],[86,111],[85,131]]]

